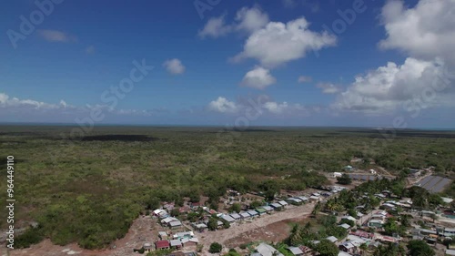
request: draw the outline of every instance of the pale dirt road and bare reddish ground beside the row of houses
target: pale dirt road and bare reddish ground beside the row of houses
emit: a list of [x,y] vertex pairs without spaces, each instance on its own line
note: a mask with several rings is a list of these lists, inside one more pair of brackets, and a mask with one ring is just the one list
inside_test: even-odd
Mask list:
[[[276,241],[281,240],[283,231],[287,230],[287,222],[285,220],[301,220],[307,218],[313,210],[314,203],[308,203],[303,206],[288,206],[287,210],[274,212],[271,215],[262,216],[251,222],[236,223],[231,225],[227,230],[208,231],[205,233],[197,233],[197,237],[204,249],[201,255],[211,255],[208,253],[208,248],[212,242],[218,242],[225,247],[237,247],[241,243],[265,240]],[[277,224],[280,222],[279,224]],[[275,231],[278,231],[275,234]],[[281,231],[281,232],[279,232]],[[288,233],[284,234],[285,236]]]

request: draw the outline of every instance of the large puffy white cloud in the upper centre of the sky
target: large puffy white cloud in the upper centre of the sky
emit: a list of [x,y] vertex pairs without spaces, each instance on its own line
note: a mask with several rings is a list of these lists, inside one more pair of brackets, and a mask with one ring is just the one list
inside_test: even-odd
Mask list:
[[289,21],[270,22],[265,28],[255,31],[248,37],[243,52],[233,58],[255,58],[264,67],[278,67],[288,61],[306,56],[308,51],[318,51],[323,47],[335,46],[336,36],[328,32],[313,32],[308,29],[304,17]]

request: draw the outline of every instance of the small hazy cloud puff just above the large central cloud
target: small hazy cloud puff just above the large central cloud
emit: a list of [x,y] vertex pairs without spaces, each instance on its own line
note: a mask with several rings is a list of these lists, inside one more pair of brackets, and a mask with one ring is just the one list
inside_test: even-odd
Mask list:
[[238,22],[236,26],[238,30],[253,33],[268,24],[268,15],[263,13],[258,6],[252,8],[243,7],[238,10],[236,21]]

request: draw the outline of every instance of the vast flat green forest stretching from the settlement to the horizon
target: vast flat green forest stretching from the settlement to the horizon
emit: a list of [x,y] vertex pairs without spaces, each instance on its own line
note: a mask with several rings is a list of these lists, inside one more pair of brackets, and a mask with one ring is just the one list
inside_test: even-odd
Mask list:
[[0,169],[15,157],[15,219],[38,224],[19,237],[22,246],[47,237],[102,248],[160,201],[205,195],[214,202],[227,188],[306,189],[327,182],[319,171],[339,171],[354,157],[365,159],[358,168],[374,160],[396,174],[434,166],[452,176],[454,151],[455,132],[442,131],[106,126],[81,134],[65,126],[0,127]]

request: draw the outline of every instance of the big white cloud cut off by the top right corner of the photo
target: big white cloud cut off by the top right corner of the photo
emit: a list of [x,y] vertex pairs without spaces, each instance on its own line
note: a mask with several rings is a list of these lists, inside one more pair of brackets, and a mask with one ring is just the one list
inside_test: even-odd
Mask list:
[[420,0],[413,8],[401,1],[389,1],[381,12],[387,38],[379,46],[428,61],[440,57],[455,66],[454,14],[453,0]]

